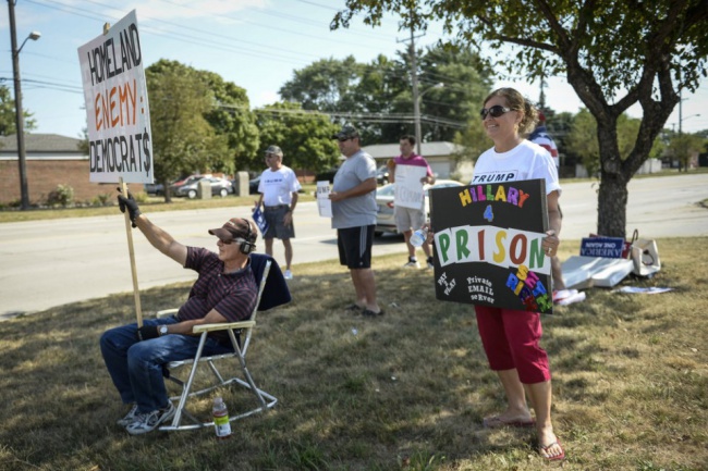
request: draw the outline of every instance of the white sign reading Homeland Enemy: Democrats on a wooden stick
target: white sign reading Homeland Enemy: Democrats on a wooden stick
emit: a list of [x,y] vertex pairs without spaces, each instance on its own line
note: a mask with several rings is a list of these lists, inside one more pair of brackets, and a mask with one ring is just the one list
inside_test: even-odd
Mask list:
[[90,182],[152,183],[150,111],[135,10],[78,48]]

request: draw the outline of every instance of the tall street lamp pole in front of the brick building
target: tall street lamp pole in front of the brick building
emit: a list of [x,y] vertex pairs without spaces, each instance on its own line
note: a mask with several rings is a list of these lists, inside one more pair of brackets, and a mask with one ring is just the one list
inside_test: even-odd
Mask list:
[[27,190],[27,165],[25,156],[25,116],[22,110],[22,85],[20,83],[20,51],[27,39],[36,41],[41,37],[39,32],[32,32],[17,48],[17,32],[15,29],[15,0],[8,0],[10,16],[10,40],[12,42],[12,73],[15,85],[15,122],[17,131],[17,164],[20,165],[20,194],[22,210],[29,208],[29,191]]

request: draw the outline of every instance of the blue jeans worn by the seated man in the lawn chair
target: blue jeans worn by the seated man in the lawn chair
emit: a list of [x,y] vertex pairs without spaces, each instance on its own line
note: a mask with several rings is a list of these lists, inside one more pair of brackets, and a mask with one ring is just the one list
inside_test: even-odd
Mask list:
[[[176,324],[174,317],[145,320],[144,325]],[[149,340],[138,340],[137,324],[106,331],[100,339],[106,368],[124,404],[137,405],[141,413],[168,406],[162,367],[170,361],[194,358],[199,336],[170,334]],[[231,345],[207,338],[203,355],[233,351]]]

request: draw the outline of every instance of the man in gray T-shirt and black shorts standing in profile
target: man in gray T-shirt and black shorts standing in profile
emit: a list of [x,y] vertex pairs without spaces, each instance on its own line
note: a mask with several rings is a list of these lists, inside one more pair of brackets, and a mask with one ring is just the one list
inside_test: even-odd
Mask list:
[[332,136],[346,160],[334,175],[329,199],[337,230],[339,260],[350,269],[356,300],[346,309],[363,315],[383,315],[376,300],[371,246],[376,227],[376,163],[362,150],[358,131],[344,126]]

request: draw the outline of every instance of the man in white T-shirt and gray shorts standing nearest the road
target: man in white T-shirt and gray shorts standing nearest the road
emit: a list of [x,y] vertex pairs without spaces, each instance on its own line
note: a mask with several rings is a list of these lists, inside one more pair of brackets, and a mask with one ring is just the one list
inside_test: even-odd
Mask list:
[[266,243],[266,253],[273,255],[273,237],[283,241],[285,247],[285,280],[292,280],[291,263],[293,261],[293,246],[290,241],[295,237],[293,226],[293,212],[297,204],[297,191],[302,188],[295,172],[283,165],[283,151],[278,146],[266,149],[266,163],[268,169],[260,174],[258,193],[260,198],[256,208],[263,204],[264,216],[268,223],[268,232],[263,235]]

